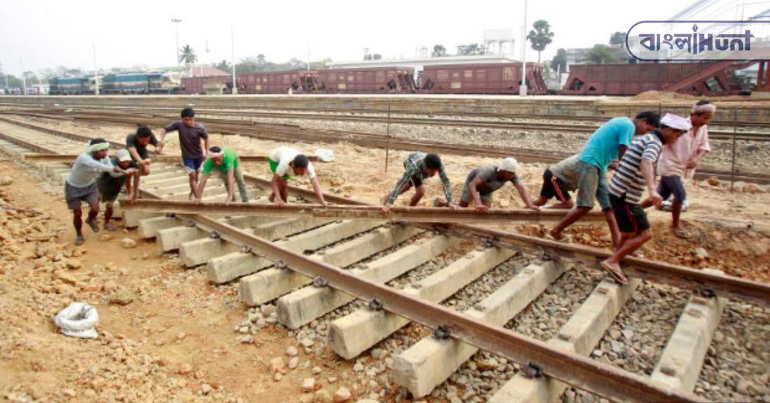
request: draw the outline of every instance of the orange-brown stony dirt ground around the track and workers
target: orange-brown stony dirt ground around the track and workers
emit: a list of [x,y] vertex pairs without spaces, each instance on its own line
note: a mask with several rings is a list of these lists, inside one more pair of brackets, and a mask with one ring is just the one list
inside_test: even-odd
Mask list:
[[[34,122],[39,124],[39,122]],[[203,122],[205,123],[205,122]],[[52,124],[57,129],[109,139],[125,139],[126,126]],[[155,128],[153,128],[155,130]],[[280,143],[240,136],[212,135],[212,144],[230,146],[240,154],[266,154]],[[312,154],[330,148],[333,163],[316,163],[323,190],[377,203],[403,173],[406,152],[390,152],[383,172],[385,151],[347,144],[300,144]],[[176,136],[169,136],[167,153],[179,153]],[[304,378],[332,395],[340,387],[357,395],[345,362],[328,351],[323,356],[300,351],[300,365],[273,380],[268,368],[273,358],[289,357],[286,348],[296,344],[287,331],[268,325],[254,334],[253,344],[242,344],[233,326],[243,320],[248,307],[237,301],[236,284],[214,286],[203,270],[188,270],[175,254],[158,256],[154,242],[139,240],[136,231],[98,234],[84,229],[86,243],[73,247],[72,216],[66,210],[60,186],[45,185],[39,173],[22,168],[8,157],[0,161],[0,398],[5,401],[243,401],[280,403],[299,401]],[[453,193],[460,194],[467,172],[497,160],[444,156]],[[530,194],[537,196],[545,166],[525,164],[521,177]],[[267,176],[266,164],[246,164],[246,171]],[[11,183],[7,183],[11,182]],[[423,205],[443,196],[437,178],[427,180]],[[300,181],[300,186],[310,187]],[[690,210],[683,214],[694,234],[689,240],[667,230],[668,213],[652,211],[654,240],[644,246],[644,257],[715,267],[727,274],[770,281],[768,239],[770,209],[762,190],[730,193],[724,185],[688,185]],[[398,203],[407,203],[404,195]],[[520,207],[513,186],[495,193],[499,207]],[[37,210],[42,214],[5,210]],[[747,229],[749,223],[752,228]],[[520,227],[543,234],[544,227]],[[603,226],[574,226],[574,240],[607,247]],[[102,238],[105,235],[109,239]],[[123,238],[138,245],[126,249]],[[705,250],[705,255],[698,248]],[[57,333],[53,317],[72,301],[85,301],[99,311],[100,338],[84,341]],[[268,308],[269,309],[269,308]],[[420,331],[420,327],[416,327]],[[306,363],[310,361],[310,363]],[[320,374],[313,374],[313,367]],[[332,382],[333,381],[333,382]],[[380,401],[394,401],[387,395]],[[427,398],[427,401],[442,401]]]

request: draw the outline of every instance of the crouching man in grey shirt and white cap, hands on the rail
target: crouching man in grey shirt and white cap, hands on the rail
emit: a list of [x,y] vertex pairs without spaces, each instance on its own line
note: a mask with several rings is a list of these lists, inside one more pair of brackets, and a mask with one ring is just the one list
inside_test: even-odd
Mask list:
[[[463,193],[460,196],[460,207],[468,207],[470,202],[476,203],[476,210],[485,213],[492,207],[492,193],[500,189],[507,182],[511,182],[521,195],[521,200],[527,208],[538,210],[530,199],[527,188],[516,175],[518,162],[513,157],[503,160],[500,165],[484,165],[470,171],[465,179]],[[436,200],[436,207],[447,207],[443,200]]]

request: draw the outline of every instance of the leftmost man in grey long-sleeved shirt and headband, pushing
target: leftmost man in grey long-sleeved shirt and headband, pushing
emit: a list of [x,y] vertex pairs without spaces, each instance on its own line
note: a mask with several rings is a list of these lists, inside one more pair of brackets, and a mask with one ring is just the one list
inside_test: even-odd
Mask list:
[[99,194],[96,193],[96,176],[102,172],[116,172],[132,175],[136,173],[136,168],[122,170],[120,166],[112,166],[107,158],[109,153],[109,143],[105,139],[92,139],[89,141],[89,148],[85,150],[75,160],[72,171],[67,177],[64,185],[64,196],[67,207],[72,210],[72,224],[75,226],[75,245],[82,245],[84,242],[82,227],[81,201],[89,203],[91,210],[85,223],[94,232],[99,232],[99,223],[96,222],[96,216],[99,215]]

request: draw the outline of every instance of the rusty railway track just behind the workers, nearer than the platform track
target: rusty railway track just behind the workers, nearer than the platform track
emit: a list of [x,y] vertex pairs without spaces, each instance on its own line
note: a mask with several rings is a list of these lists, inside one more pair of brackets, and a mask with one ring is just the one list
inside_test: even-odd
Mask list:
[[[42,113],[29,113],[27,115],[40,119],[68,119],[90,122],[90,123],[112,123],[112,124],[128,124],[128,125],[151,125],[151,126],[165,126],[168,123],[168,118],[157,117],[142,117],[142,116],[126,116],[125,114],[113,115],[103,113],[91,113],[91,114],[42,114]],[[22,124],[27,127],[38,127],[44,131],[51,131],[52,129],[45,128],[38,125],[30,126],[29,123],[18,122],[17,120],[2,118],[0,121]],[[209,131],[222,134],[233,134],[246,137],[255,137],[259,139],[286,139],[292,142],[304,141],[308,143],[320,142],[320,143],[340,143],[348,142],[357,144],[360,146],[367,146],[380,149],[402,149],[407,151],[413,151],[417,149],[431,150],[434,153],[446,153],[462,156],[485,156],[485,157],[507,157],[514,156],[517,160],[523,163],[557,163],[571,156],[571,153],[550,152],[541,149],[521,149],[521,148],[504,148],[504,147],[474,147],[474,146],[461,146],[451,143],[438,143],[434,141],[419,140],[419,139],[407,139],[401,137],[388,137],[383,134],[377,133],[360,133],[360,132],[346,132],[342,130],[322,130],[322,129],[303,129],[300,126],[290,125],[263,125],[261,123],[253,123],[248,121],[233,121],[228,119],[206,119],[206,127]],[[62,136],[71,135],[72,133],[64,133],[61,131],[53,130]],[[716,176],[719,180],[735,180],[743,181],[747,183],[770,183],[770,176],[765,173],[747,172],[745,170],[736,170],[735,173],[730,171],[715,170],[708,166],[701,167],[698,173],[695,175],[697,180],[705,180],[708,177]]]

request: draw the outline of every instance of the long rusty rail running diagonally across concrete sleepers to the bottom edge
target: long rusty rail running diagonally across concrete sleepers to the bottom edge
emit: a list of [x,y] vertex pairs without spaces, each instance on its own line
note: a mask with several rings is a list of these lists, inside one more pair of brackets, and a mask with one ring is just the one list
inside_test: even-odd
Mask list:
[[[146,190],[142,193],[152,198],[158,197]],[[410,321],[434,328],[446,327],[452,338],[500,354],[511,361],[537,364],[543,374],[611,401],[698,401],[695,395],[678,391],[648,377],[623,371],[580,354],[552,348],[543,341],[504,327],[492,326],[440,304],[423,301],[330,264],[308,259],[222,221],[199,214],[182,214],[179,218],[190,220],[201,230],[216,233],[220,239],[272,260],[277,267],[286,267],[307,277],[321,277],[330,287],[364,301],[380,301],[383,309]]]

